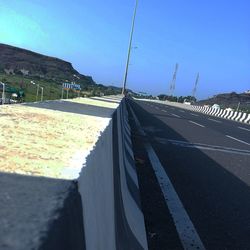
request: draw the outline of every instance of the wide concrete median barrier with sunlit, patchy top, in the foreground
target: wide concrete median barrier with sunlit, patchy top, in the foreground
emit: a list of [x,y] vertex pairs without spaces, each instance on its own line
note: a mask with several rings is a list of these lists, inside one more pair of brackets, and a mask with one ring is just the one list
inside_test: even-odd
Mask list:
[[[110,108],[113,104],[119,107]],[[13,123],[17,118],[18,125]],[[43,133],[34,134],[38,118],[51,123],[46,122]],[[16,150],[13,162],[8,162],[2,152],[15,148],[17,138],[0,131],[0,249],[148,248],[124,99],[27,103],[4,107],[0,119],[10,119],[13,129],[20,129],[20,136],[30,140],[25,151]],[[58,124],[62,126],[58,128]],[[29,128],[24,129],[24,125]],[[57,137],[51,141],[53,145],[42,146],[48,142],[45,134],[52,136],[53,131],[64,146],[61,152],[65,156],[60,157],[65,159],[60,164],[67,164],[70,157],[69,165],[56,162],[60,151],[51,154],[60,147]],[[84,131],[97,136],[91,140],[94,146]],[[9,149],[4,147],[7,138]],[[41,151],[29,150],[38,142]],[[86,146],[82,148],[82,144]],[[14,161],[17,156],[20,160]],[[37,166],[36,158],[46,161]],[[34,160],[23,164],[27,159]],[[45,169],[41,167],[46,163]],[[54,169],[56,163],[60,166]]]

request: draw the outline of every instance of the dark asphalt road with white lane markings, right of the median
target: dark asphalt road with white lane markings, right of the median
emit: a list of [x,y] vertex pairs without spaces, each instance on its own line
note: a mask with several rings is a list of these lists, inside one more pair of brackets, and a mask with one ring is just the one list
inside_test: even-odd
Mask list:
[[[159,234],[159,244],[149,242],[149,248],[250,249],[250,126],[158,103],[129,103],[145,132],[138,136],[132,126],[135,157],[144,157],[149,175],[138,170],[148,240]],[[171,221],[167,227],[159,214]]]

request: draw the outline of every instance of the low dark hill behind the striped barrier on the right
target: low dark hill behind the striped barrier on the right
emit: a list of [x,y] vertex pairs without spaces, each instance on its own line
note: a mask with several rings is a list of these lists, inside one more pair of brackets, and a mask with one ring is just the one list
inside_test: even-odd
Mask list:
[[207,100],[198,101],[196,104],[198,105],[213,105],[219,104],[223,108],[236,108],[240,103],[240,107],[242,109],[250,110],[250,93],[241,93],[237,94],[235,92],[232,93],[224,93],[215,95],[212,98]]

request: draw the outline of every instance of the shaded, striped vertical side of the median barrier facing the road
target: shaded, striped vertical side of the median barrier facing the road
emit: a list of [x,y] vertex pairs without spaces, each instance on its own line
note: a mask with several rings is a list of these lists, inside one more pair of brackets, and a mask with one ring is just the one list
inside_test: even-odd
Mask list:
[[78,179],[86,249],[147,249],[125,100]]

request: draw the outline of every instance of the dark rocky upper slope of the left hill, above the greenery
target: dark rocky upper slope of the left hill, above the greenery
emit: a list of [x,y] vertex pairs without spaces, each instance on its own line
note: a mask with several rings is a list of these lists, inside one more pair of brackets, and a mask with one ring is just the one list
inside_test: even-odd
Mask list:
[[0,72],[69,81],[74,80],[75,75],[79,83],[95,84],[90,76],[80,74],[69,62],[1,43]]

